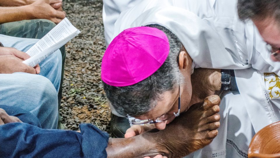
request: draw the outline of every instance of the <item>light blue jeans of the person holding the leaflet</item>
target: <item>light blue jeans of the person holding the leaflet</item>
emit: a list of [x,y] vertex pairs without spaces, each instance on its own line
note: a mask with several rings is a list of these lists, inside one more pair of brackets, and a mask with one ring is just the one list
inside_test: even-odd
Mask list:
[[[38,40],[0,35],[4,47],[27,51]],[[55,129],[58,121],[57,92],[60,85],[62,57],[59,50],[40,63],[39,75],[0,74],[0,105],[30,111],[42,128]]]

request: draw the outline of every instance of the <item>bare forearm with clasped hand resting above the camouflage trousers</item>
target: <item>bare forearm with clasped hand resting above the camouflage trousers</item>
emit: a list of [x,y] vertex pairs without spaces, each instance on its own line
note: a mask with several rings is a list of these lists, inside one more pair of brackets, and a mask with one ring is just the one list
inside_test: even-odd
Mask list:
[[66,13],[61,11],[61,9],[54,9],[50,5],[56,1],[57,0],[37,0],[25,6],[0,7],[0,16],[2,17],[0,18],[0,23],[30,19],[48,19],[54,23],[59,23],[65,18]]

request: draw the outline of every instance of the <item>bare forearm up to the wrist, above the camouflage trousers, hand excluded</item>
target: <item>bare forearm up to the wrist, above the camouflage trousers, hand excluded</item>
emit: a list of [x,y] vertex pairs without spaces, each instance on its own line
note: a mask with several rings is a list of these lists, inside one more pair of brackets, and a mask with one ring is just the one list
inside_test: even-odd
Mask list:
[[34,19],[29,6],[0,7],[0,23]]

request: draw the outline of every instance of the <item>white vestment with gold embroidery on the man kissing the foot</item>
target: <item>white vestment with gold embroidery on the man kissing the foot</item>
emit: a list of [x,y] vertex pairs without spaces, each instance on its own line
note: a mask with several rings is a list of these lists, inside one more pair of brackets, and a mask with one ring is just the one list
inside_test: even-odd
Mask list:
[[255,132],[280,118],[280,90],[270,82],[280,82],[280,63],[270,59],[257,28],[239,20],[236,0],[142,0],[120,13],[107,41],[155,23],[181,40],[196,68],[234,69],[240,92],[222,98],[218,136],[188,157],[246,157]]

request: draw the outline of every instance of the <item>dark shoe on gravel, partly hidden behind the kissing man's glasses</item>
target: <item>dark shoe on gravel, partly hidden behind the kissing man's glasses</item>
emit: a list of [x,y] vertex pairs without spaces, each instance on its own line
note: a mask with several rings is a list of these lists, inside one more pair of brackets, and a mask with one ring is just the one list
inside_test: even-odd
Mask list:
[[130,123],[126,117],[111,114],[111,131],[115,137],[125,138],[125,132],[128,128],[130,128]]

